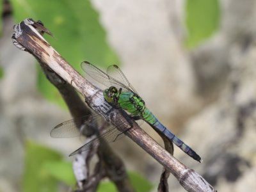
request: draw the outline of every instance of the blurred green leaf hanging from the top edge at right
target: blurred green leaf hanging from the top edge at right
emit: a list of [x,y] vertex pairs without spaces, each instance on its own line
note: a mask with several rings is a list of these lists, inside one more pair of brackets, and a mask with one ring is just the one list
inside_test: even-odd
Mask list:
[[192,48],[209,38],[220,26],[220,14],[218,0],[187,0],[186,45]]

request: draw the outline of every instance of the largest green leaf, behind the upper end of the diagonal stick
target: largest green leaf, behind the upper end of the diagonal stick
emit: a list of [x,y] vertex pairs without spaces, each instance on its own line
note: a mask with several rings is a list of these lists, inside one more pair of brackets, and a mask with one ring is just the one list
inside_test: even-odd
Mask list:
[[[106,31],[90,1],[11,0],[16,22],[26,18],[41,20],[55,36],[45,35],[61,56],[81,72],[81,61],[107,67],[118,58],[106,41]],[[38,74],[38,89],[44,97],[60,104],[60,94],[44,74]],[[63,104],[63,102],[61,102]]]

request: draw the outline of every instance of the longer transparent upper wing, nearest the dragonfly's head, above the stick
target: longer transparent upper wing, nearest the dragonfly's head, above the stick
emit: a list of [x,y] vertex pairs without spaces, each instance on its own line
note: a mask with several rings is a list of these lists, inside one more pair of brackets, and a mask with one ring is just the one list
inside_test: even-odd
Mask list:
[[122,88],[122,90],[134,92],[134,90],[131,90],[129,86],[126,86],[127,83],[125,81],[122,82],[122,79],[120,78],[115,79],[115,77],[109,76],[108,74],[106,74],[99,68],[95,67],[94,65],[92,65],[92,63],[89,63],[88,61],[83,61],[81,63],[81,68],[86,74],[92,77],[95,81],[98,81],[99,83],[104,84],[108,88],[109,86],[115,86],[117,89]]

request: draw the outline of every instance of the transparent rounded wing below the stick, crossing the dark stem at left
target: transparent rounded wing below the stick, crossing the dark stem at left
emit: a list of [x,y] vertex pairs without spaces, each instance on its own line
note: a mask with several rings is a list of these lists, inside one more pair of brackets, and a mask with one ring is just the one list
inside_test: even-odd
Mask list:
[[52,129],[50,135],[52,138],[73,138],[76,136],[81,136],[85,129],[95,129],[95,124],[100,118],[102,117],[97,113],[93,113],[92,115],[85,115],[68,120],[56,125],[56,127]]

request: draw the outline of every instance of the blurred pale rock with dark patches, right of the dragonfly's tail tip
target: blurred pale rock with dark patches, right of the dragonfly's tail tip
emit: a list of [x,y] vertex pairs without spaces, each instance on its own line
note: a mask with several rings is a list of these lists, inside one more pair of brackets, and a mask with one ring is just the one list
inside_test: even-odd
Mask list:
[[197,140],[195,147],[204,159],[198,169],[218,191],[254,191],[256,41],[245,51],[233,47],[228,58],[231,70],[225,88],[216,102],[191,118],[184,140]]

